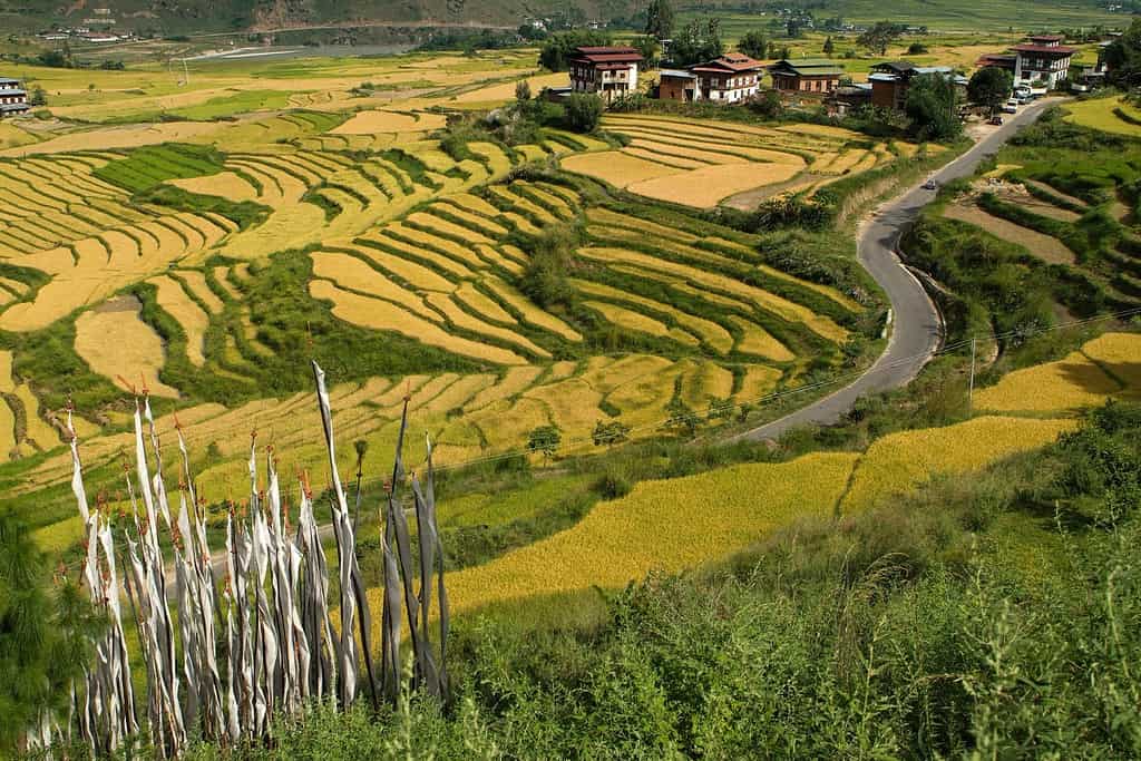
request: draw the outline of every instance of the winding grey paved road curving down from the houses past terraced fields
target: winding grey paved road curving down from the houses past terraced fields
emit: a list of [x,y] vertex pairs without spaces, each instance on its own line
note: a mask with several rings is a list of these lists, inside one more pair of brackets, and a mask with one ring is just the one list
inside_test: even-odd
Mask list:
[[[940,185],[974,173],[979,163],[994,155],[1021,127],[1035,121],[1043,111],[1059,103],[1047,98],[1008,116],[1005,123],[949,162],[934,175]],[[920,211],[936,196],[934,191],[914,186],[884,203],[861,227],[857,257],[891,301],[893,326],[888,348],[867,372],[852,383],[779,420],[748,430],[737,437],[746,440],[776,439],[800,426],[831,426],[869,394],[909,383],[934,355],[942,335],[942,322],[919,280],[899,260],[899,238],[919,218]]]

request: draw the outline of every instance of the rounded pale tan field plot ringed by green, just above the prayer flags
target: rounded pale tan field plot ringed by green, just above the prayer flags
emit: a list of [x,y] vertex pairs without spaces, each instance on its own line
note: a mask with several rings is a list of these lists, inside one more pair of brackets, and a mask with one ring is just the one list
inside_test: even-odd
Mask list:
[[177,397],[178,389],[159,380],[165,362],[162,339],[139,317],[133,296],[115,297],[75,321],[75,353],[95,372],[122,388],[119,377],[141,381],[155,396]]

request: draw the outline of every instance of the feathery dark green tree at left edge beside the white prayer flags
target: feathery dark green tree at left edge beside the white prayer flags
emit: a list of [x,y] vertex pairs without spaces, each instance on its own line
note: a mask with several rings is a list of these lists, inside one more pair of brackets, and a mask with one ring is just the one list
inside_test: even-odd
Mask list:
[[0,756],[17,748],[43,712],[66,709],[99,629],[76,585],[52,589],[47,558],[27,528],[0,517]]

